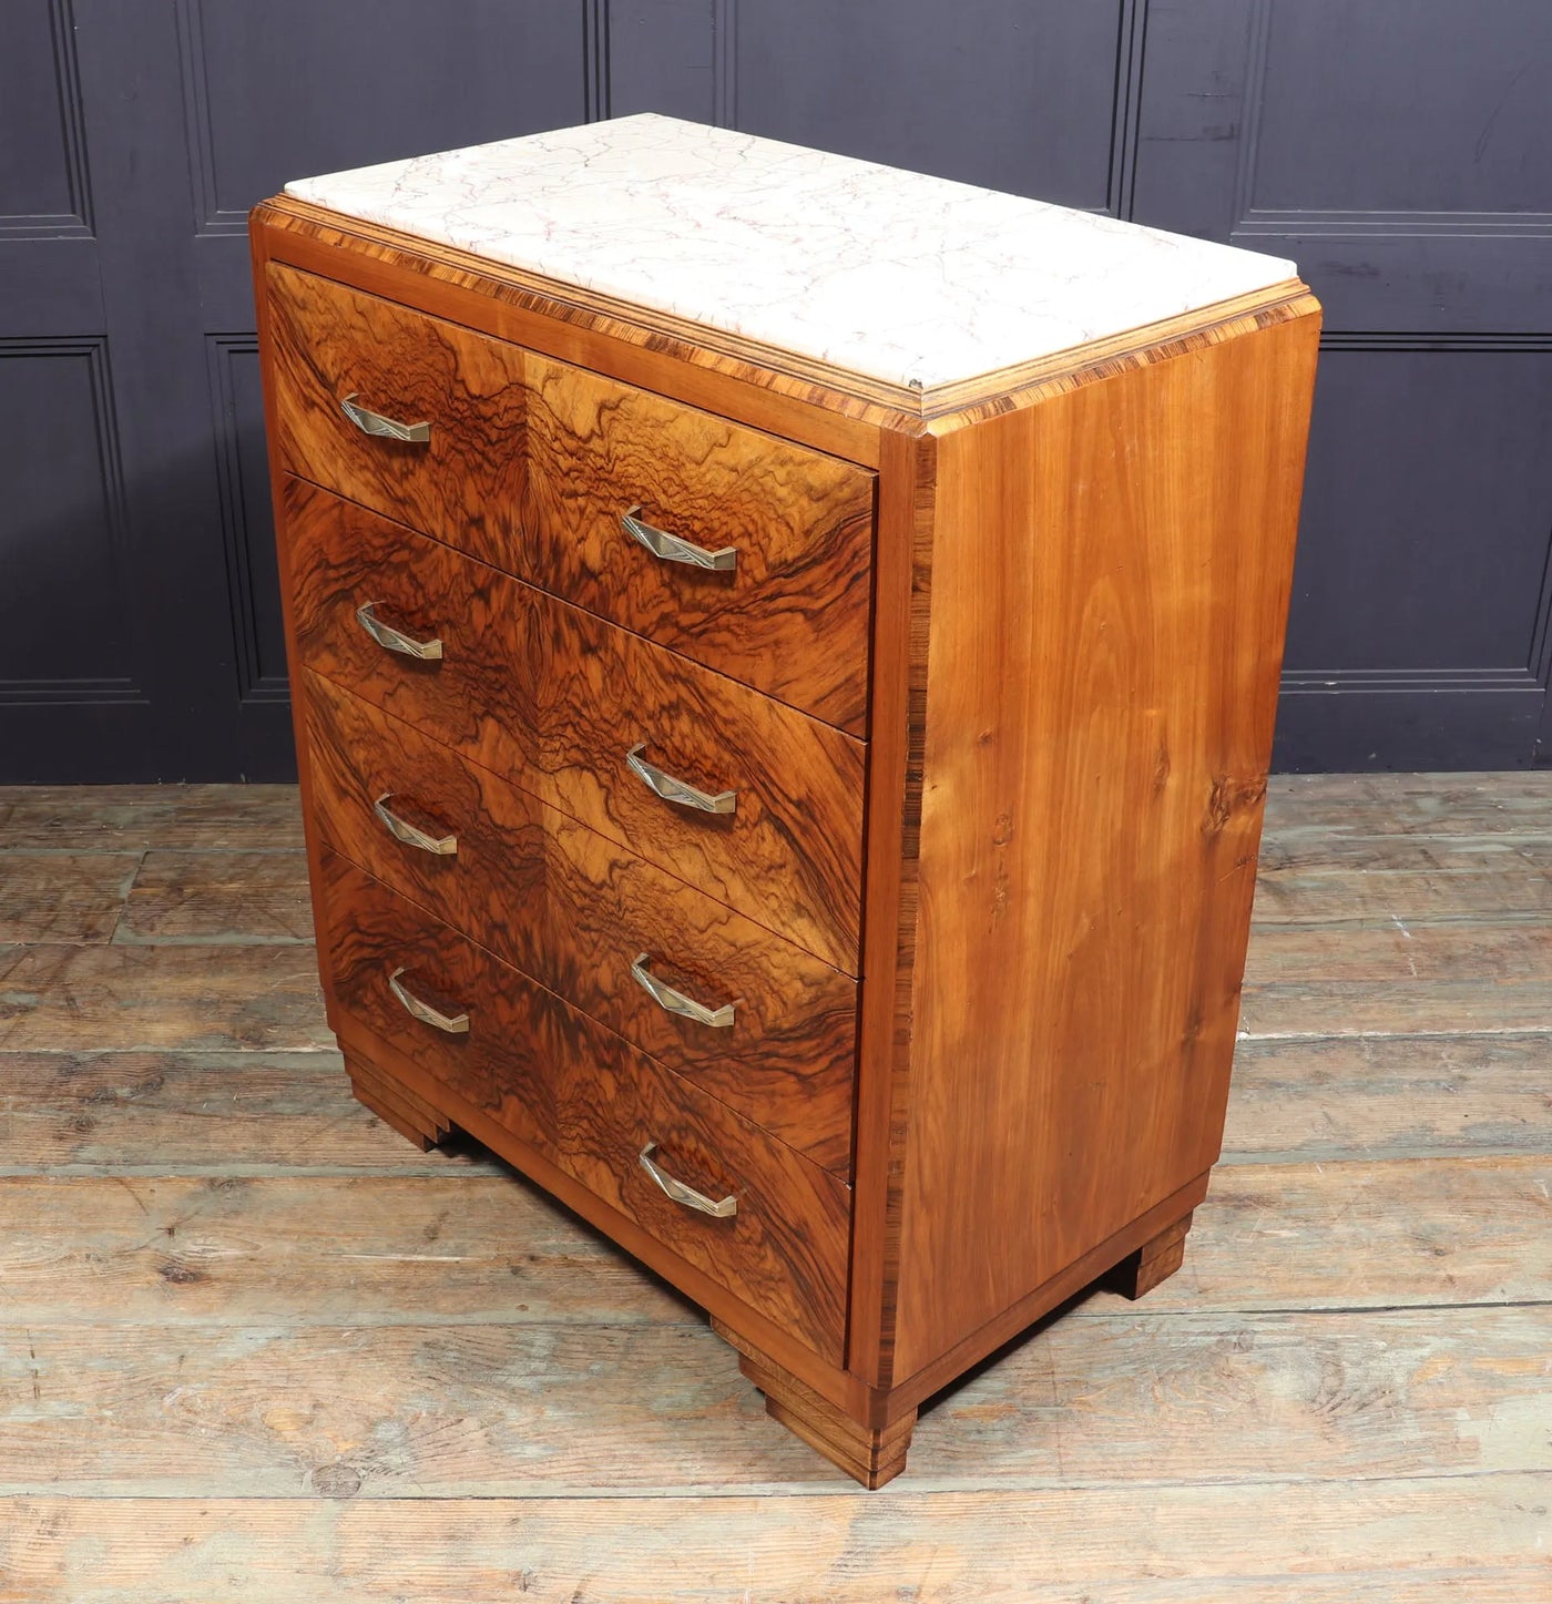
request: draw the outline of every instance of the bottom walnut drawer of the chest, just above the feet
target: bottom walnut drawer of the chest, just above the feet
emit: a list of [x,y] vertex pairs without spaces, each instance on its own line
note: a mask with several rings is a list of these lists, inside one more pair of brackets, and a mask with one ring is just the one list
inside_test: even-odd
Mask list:
[[[345,1015],[842,1363],[851,1195],[835,1176],[338,855],[322,876]],[[649,1144],[667,1177],[734,1198],[731,1217],[670,1200],[640,1163]]]

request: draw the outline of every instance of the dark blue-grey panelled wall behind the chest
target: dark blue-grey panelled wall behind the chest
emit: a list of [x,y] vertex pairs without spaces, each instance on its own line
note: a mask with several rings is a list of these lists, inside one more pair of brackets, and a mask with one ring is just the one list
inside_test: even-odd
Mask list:
[[0,781],[290,773],[247,209],[646,109],[1295,258],[1279,767],[1552,762],[1546,0],[8,0]]

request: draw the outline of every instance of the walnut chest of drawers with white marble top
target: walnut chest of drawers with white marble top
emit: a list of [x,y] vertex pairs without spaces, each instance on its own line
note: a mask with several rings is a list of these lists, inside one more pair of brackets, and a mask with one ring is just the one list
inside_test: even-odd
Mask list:
[[1318,308],[633,117],[253,218],[330,1025],[867,1485],[1217,1156]]

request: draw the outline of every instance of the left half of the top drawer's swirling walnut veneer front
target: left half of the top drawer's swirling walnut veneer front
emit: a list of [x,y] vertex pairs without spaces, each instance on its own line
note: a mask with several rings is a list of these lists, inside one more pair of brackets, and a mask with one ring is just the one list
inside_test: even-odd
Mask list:
[[[523,504],[523,353],[500,340],[271,263],[269,387],[277,467],[454,544],[508,549]],[[340,403],[423,444],[364,435]]]

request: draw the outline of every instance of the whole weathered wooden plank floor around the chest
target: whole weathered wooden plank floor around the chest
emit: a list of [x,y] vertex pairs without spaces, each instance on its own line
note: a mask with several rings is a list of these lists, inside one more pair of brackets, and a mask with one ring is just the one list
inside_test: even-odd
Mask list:
[[1275,784],[1223,1163],[863,1493],[356,1107],[287,789],[0,791],[0,1599],[1552,1599],[1552,773]]

